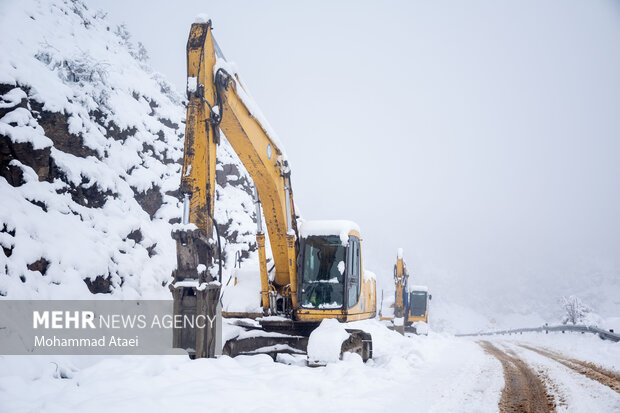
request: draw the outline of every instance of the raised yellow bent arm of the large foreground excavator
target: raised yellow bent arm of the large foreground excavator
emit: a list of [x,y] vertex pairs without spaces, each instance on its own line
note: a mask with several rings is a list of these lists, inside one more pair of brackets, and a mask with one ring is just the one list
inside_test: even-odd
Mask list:
[[238,76],[227,70],[229,65],[211,29],[210,21],[194,23],[187,43],[188,108],[181,182],[184,216],[203,238],[213,237],[215,159],[221,129],[254,181],[262,203],[275,265],[270,283],[265,232],[257,208],[263,310],[270,308],[270,291],[288,299],[295,308],[297,228],[288,162]]

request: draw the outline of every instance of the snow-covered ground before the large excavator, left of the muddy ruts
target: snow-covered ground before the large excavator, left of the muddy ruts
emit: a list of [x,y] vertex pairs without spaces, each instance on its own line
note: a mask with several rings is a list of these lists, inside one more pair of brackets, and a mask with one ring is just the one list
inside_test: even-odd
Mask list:
[[1,373],[0,411],[496,411],[502,373],[476,343],[442,334],[402,337],[374,320],[352,327],[373,335],[375,354],[366,364],[357,355],[318,368],[268,356],[126,356],[91,358],[95,364],[72,373],[66,367],[71,377],[61,379],[55,364],[40,359],[38,374]]

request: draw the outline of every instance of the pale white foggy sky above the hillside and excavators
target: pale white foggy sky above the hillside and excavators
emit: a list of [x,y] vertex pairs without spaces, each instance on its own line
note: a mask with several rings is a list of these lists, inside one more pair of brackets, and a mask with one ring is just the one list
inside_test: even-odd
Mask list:
[[380,284],[402,247],[415,283],[479,309],[604,286],[620,311],[619,3],[87,3],[181,92],[209,14],[301,213],[356,221]]

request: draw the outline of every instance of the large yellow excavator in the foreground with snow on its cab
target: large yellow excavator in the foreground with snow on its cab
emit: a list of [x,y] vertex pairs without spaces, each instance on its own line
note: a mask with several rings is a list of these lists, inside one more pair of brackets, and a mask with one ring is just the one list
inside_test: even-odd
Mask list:
[[[191,27],[187,73],[181,172],[183,222],[173,231],[177,269],[170,287],[175,315],[204,314],[211,320],[217,314],[222,267],[221,260],[219,267],[214,264],[221,251],[219,236],[214,234],[213,213],[221,131],[256,188],[257,276],[262,306],[261,317],[224,313],[225,317],[246,320],[254,317],[255,322],[250,324],[256,330],[229,340],[224,354],[303,353],[308,335],[323,319],[348,322],[373,318],[375,280],[363,270],[359,228],[350,221],[298,223],[291,170],[282,145],[221,53],[210,20],[199,20]],[[273,255],[271,270],[267,268],[267,236]],[[205,328],[177,329],[173,345],[188,349],[195,357],[213,357],[218,340],[215,330],[213,323]],[[347,331],[350,337],[342,351],[357,352],[364,360],[370,358],[370,335]]]

